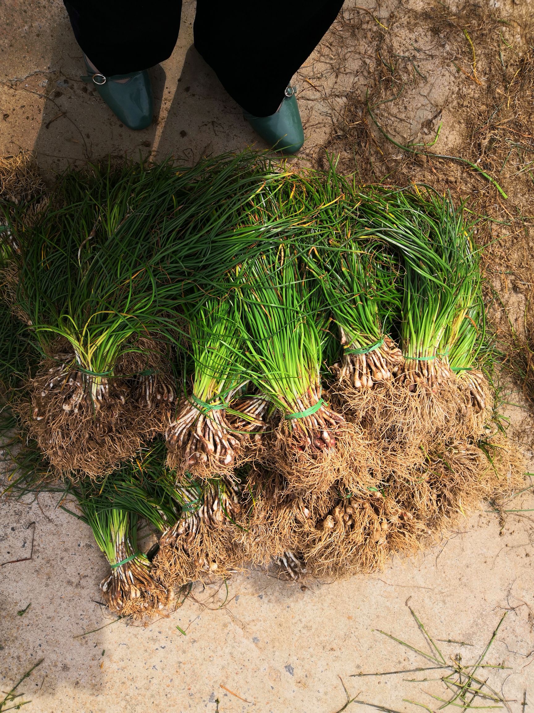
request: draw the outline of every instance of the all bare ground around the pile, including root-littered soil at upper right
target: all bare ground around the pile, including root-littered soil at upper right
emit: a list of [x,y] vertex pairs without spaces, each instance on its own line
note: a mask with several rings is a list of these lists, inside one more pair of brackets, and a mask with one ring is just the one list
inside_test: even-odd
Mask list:
[[[488,10],[500,11],[498,3],[489,5]],[[480,109],[481,116],[491,109],[484,78],[493,76],[489,71],[493,55],[486,56],[484,48],[493,47],[487,38],[494,39],[494,34],[484,34],[488,23],[479,21],[476,6],[466,7],[461,15],[464,25],[446,26],[449,29],[441,37],[438,33],[438,41],[429,29],[429,12],[422,16],[424,6],[416,0],[404,3],[402,9],[397,3],[379,8],[367,1],[346,4],[343,18],[295,77],[308,137],[300,160],[320,165],[325,150],[333,150],[341,154],[347,169],[356,166],[365,180],[391,174],[391,180],[402,183],[439,175],[451,190],[460,185],[474,197],[487,196],[498,205],[499,194],[493,189],[491,193],[487,181],[458,163],[451,168],[450,162],[407,160],[405,152],[382,141],[383,135],[362,110],[366,94],[374,93],[376,101],[393,96],[394,101],[380,105],[375,115],[397,143],[429,141],[443,121],[441,153],[464,152],[473,163],[481,151],[491,153],[493,143],[484,148],[480,141],[473,143],[473,108]],[[501,6],[508,22],[501,24],[501,35],[517,54],[514,57],[502,45],[503,61],[507,67],[510,63],[512,73],[513,62],[520,63],[528,45],[525,18],[531,7],[528,3]],[[80,51],[62,4],[57,0],[2,4],[2,153],[34,150],[40,165],[53,171],[110,152],[155,158],[172,153],[194,160],[203,153],[261,146],[239,107],[191,47],[193,16],[194,3],[184,3],[177,48],[152,71],[155,125],[131,133],[78,79],[83,71]],[[462,27],[476,47],[474,71],[480,84],[469,78],[473,56]],[[398,63],[393,66],[395,55]],[[419,59],[422,55],[424,59]],[[384,66],[390,67],[389,75]],[[397,84],[399,73],[402,79]],[[405,93],[397,96],[401,84]],[[392,153],[387,153],[386,145]],[[378,160],[380,152],[383,161]],[[482,166],[498,172],[494,163]],[[527,189],[517,175],[505,171],[503,181],[508,192],[519,186],[513,205],[523,205]],[[517,248],[515,253],[510,245]],[[526,297],[522,283],[515,289],[513,282],[520,251],[515,243],[508,247],[505,257],[509,260],[514,253],[515,272],[504,270],[504,258],[503,262],[495,258],[493,268],[500,277],[494,286],[506,298],[504,304],[513,307],[520,329]],[[508,277],[503,281],[505,272]],[[503,400],[531,458],[528,411],[511,406],[521,401],[508,387],[503,389]],[[434,711],[441,703],[429,694],[444,697],[444,685],[405,680],[430,679],[434,672],[351,677],[358,672],[431,665],[377,631],[429,652],[410,613],[412,607],[436,640],[464,642],[438,644],[446,660],[461,653],[464,662],[477,660],[506,612],[485,661],[504,662],[509,668],[484,669],[483,678],[489,676],[498,691],[502,687],[511,711],[525,713],[523,701],[528,704],[534,694],[531,508],[530,493],[508,504],[507,510],[521,512],[504,513],[504,521],[490,506],[483,506],[457,532],[444,533],[435,548],[404,563],[394,560],[384,573],[370,577],[300,587],[261,573],[236,575],[228,583],[228,593],[226,588],[196,588],[175,612],[144,627],[112,623],[98,604],[98,583],[106,566],[89,528],[56,508],[51,496],[41,496],[32,504],[4,498],[0,500],[0,564],[30,553],[31,560],[0,568],[0,689],[9,690],[43,658],[17,691],[25,694],[20,700],[31,699],[28,712],[129,713],[150,708],[222,713],[256,707],[273,713],[334,713],[347,702],[342,683],[351,697],[358,694],[359,702],[416,711],[409,702],[415,701]]]

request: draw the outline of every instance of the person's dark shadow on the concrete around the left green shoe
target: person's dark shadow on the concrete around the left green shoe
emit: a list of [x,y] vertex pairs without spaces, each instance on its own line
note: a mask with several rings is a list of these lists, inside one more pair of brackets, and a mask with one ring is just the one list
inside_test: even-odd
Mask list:
[[[182,19],[181,39],[172,56],[163,66],[149,70],[155,119],[142,131],[121,125],[93,83],[81,81],[80,74],[85,73],[82,51],[66,12],[58,14],[46,43],[48,71],[36,76],[30,88],[25,87],[33,93],[31,99],[43,106],[33,144],[43,170],[53,175],[68,165],[83,165],[109,154],[155,160],[174,155],[190,163],[202,155],[248,145],[267,148],[191,44],[192,10],[187,6],[189,23]],[[22,91],[16,94],[23,96]]]

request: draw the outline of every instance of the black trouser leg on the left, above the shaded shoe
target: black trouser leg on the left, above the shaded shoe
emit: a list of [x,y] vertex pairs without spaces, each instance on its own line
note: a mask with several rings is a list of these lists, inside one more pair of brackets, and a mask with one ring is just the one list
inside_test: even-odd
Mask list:
[[63,0],[74,36],[106,76],[135,72],[171,56],[182,0]]

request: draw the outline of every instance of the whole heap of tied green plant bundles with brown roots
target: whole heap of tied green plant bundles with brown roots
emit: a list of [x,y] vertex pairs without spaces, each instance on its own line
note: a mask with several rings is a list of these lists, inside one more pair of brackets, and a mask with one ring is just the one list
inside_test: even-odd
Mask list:
[[90,526],[110,609],[251,565],[370,572],[521,483],[448,195],[245,153],[1,207],[8,490]]

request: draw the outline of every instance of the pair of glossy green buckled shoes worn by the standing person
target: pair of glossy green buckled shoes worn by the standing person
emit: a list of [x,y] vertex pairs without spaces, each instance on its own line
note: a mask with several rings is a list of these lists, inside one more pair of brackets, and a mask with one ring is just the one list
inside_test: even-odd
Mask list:
[[[84,59],[88,75],[83,76],[82,80],[93,82],[96,91],[121,123],[133,130],[150,126],[154,109],[147,70],[106,77],[90,66],[85,55]],[[122,79],[127,81],[118,81]],[[302,121],[293,87],[286,88],[286,96],[278,111],[271,116],[253,116],[246,111],[243,114],[261,138],[280,153],[297,153],[304,143]]]

